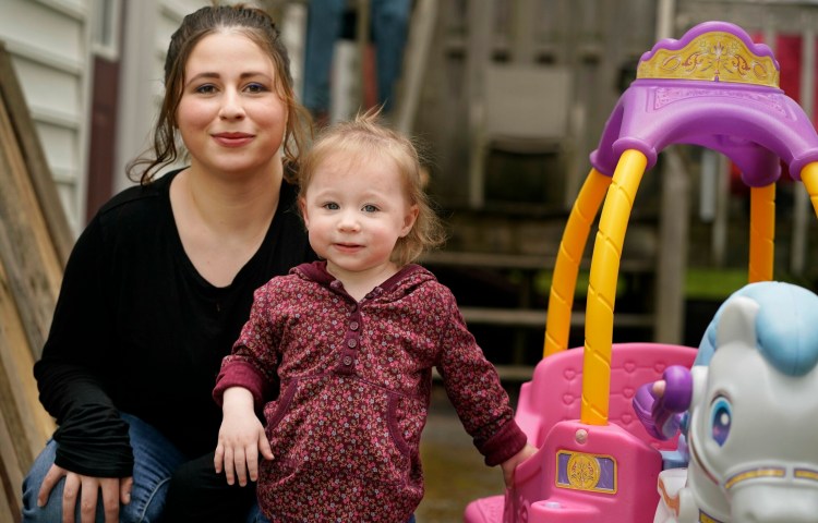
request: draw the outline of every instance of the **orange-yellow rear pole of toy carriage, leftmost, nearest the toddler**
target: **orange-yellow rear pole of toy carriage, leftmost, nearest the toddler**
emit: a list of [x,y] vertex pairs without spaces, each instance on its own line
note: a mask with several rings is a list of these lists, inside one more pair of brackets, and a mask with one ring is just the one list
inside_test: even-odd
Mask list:
[[551,279],[542,357],[568,348],[570,311],[574,305],[579,264],[582,260],[582,252],[588,242],[591,224],[610,185],[611,177],[592,168],[568,215],[568,221],[560,241],[554,276]]

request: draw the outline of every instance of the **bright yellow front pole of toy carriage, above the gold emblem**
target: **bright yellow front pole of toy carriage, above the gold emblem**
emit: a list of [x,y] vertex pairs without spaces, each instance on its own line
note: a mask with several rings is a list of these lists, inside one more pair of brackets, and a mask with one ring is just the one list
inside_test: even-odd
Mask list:
[[580,422],[606,425],[616,281],[627,222],[648,159],[638,150],[622,154],[602,207],[593,244],[585,321]]

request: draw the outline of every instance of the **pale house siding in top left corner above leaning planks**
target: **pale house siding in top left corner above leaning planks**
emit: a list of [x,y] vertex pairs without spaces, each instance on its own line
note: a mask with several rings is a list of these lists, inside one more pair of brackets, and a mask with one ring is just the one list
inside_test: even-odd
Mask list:
[[72,230],[85,212],[91,0],[0,0],[12,56]]

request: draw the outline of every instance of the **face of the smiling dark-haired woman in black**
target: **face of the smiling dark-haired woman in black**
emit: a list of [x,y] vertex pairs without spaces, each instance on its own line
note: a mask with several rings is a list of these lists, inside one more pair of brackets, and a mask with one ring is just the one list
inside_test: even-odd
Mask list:
[[280,169],[287,108],[273,60],[239,33],[204,37],[184,68],[177,124],[194,169]]

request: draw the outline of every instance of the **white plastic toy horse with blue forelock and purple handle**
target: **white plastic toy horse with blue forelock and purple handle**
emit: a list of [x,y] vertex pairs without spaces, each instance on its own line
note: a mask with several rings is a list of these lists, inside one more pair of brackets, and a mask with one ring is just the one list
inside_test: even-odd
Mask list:
[[634,402],[649,433],[687,437],[654,523],[817,522],[817,363],[818,296],[781,282],[730,296],[693,368],[669,367]]

